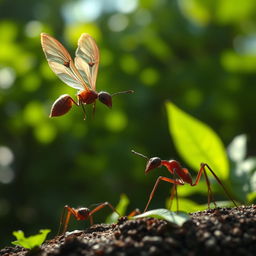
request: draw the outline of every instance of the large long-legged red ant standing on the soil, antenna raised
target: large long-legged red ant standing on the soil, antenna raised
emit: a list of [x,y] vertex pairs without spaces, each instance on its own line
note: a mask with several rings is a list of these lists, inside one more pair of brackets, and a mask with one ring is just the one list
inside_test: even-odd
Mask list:
[[224,185],[222,184],[222,182],[220,181],[220,179],[218,178],[218,176],[214,173],[214,171],[210,168],[210,166],[206,163],[201,163],[200,165],[200,169],[199,172],[196,176],[196,180],[193,183],[192,181],[192,177],[191,174],[189,173],[188,169],[183,168],[181,166],[181,164],[176,161],[176,160],[161,160],[159,157],[152,157],[152,158],[148,158],[147,156],[144,156],[138,152],[135,152],[134,150],[132,150],[132,153],[139,155],[143,158],[146,158],[148,160],[147,165],[146,165],[146,169],[145,169],[145,173],[147,174],[150,170],[161,167],[161,166],[165,166],[167,168],[167,170],[173,174],[173,175],[177,175],[177,179],[170,179],[170,178],[166,178],[163,176],[159,176],[158,179],[156,180],[156,183],[152,189],[152,192],[149,196],[149,200],[147,202],[147,205],[145,207],[145,211],[147,211],[148,206],[155,194],[155,191],[157,189],[157,186],[159,184],[159,182],[161,180],[169,182],[174,184],[173,189],[171,190],[171,197],[170,200],[172,201],[174,194],[176,192],[176,196],[177,196],[177,185],[185,185],[185,183],[190,184],[190,186],[196,186],[198,184],[198,182],[200,181],[200,178],[202,176],[202,173],[204,173],[205,176],[205,180],[206,180],[206,185],[208,188],[208,208],[210,208],[210,203],[211,201],[213,201],[214,206],[216,207],[216,203],[213,199],[213,195],[212,195],[212,190],[211,190],[211,186],[210,186],[210,181],[208,179],[207,173],[206,173],[206,169],[205,167],[207,167],[207,169],[212,173],[212,175],[214,176],[214,178],[217,180],[217,182],[221,185],[221,187],[223,188],[223,190],[225,191],[226,195],[228,196],[228,198],[233,202],[233,204],[237,207],[237,204],[235,203],[235,201],[231,198],[230,194],[228,193],[227,189],[224,187]]

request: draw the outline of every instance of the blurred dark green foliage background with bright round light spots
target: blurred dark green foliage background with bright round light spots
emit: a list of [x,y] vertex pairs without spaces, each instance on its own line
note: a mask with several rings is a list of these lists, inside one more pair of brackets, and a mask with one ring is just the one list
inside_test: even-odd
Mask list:
[[[41,32],[72,56],[81,33],[91,34],[101,54],[98,91],[135,93],[114,97],[112,110],[97,103],[94,118],[87,106],[86,121],[76,107],[48,118],[55,99],[76,90],[50,70]],[[131,149],[182,162],[166,100],[211,126],[225,146],[246,134],[255,155],[255,99],[254,0],[0,1],[1,247],[14,230],[50,228],[54,236],[66,204],[116,205],[125,193],[129,210],[143,209],[157,176],[168,173],[145,176],[145,160]],[[162,184],[150,208],[164,207],[169,191]],[[87,225],[72,220],[70,230]]]

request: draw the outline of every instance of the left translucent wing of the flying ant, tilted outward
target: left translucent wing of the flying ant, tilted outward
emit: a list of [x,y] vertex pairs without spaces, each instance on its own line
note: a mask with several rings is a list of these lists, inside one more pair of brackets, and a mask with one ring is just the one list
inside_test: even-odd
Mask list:
[[69,52],[58,40],[42,33],[41,44],[50,68],[65,84],[78,90],[89,90]]

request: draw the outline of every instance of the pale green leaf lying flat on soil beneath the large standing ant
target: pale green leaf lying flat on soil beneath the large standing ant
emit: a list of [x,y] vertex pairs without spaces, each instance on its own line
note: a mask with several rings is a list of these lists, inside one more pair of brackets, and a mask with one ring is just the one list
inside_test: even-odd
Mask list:
[[148,212],[144,212],[142,214],[136,215],[133,218],[145,218],[145,217],[153,217],[157,219],[163,219],[172,223],[175,223],[181,226],[186,220],[189,219],[189,215],[186,213],[175,213],[171,212],[167,209],[155,209]]

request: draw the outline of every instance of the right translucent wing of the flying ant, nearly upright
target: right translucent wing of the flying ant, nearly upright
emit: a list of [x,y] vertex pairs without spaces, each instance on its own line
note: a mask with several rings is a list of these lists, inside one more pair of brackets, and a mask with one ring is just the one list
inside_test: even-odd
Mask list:
[[96,90],[96,79],[100,61],[99,48],[89,34],[82,34],[78,40],[75,65],[93,90]]

